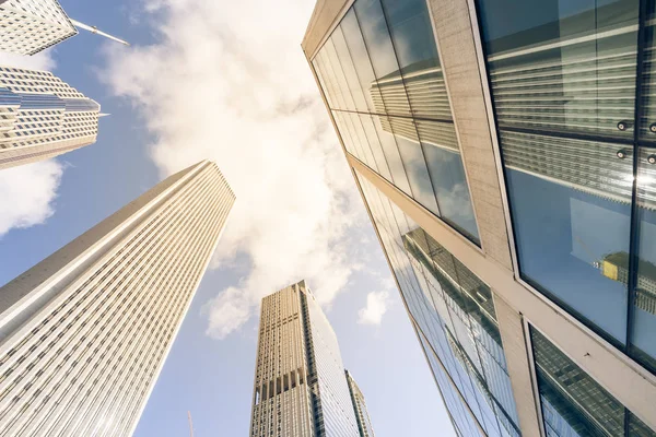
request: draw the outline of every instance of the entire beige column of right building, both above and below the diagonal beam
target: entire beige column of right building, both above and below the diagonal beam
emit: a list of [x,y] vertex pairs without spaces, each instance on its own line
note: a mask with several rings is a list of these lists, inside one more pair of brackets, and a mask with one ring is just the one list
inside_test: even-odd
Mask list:
[[[495,156],[495,132],[491,130],[481,74],[484,66],[478,56],[475,37],[478,28],[476,11],[467,1],[427,0],[433,29],[477,222],[485,257],[507,270],[513,270],[511,241],[504,212],[503,175]],[[539,437],[540,422],[532,386],[529,351],[524,339],[522,316],[508,304],[494,296],[499,328],[506,355],[517,414],[525,436]]]

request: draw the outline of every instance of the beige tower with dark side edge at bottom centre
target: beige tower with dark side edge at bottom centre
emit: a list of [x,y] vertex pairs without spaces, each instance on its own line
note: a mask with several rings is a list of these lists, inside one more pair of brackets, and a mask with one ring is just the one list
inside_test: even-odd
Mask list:
[[250,436],[360,436],[337,338],[305,281],[262,299]]

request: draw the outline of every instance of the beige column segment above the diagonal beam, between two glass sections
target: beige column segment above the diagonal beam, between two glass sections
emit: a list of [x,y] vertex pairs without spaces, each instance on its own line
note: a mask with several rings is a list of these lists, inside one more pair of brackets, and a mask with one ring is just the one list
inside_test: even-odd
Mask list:
[[[485,255],[512,270],[502,186],[465,0],[427,0]],[[478,31],[476,31],[478,32]]]

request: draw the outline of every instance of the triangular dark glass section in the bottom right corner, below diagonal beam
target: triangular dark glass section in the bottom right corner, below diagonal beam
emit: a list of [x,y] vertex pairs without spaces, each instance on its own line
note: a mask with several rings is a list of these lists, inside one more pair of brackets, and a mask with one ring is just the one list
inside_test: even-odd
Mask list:
[[547,437],[656,436],[535,328],[530,340]]

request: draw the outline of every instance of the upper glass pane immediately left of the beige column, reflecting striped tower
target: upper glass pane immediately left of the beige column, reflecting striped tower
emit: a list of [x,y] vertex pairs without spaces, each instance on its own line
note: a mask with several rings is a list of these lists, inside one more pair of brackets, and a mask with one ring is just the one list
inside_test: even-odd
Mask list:
[[[450,119],[448,96],[426,1],[383,0],[383,8],[387,14],[412,114],[418,117]],[[380,83],[382,88],[385,85]]]

